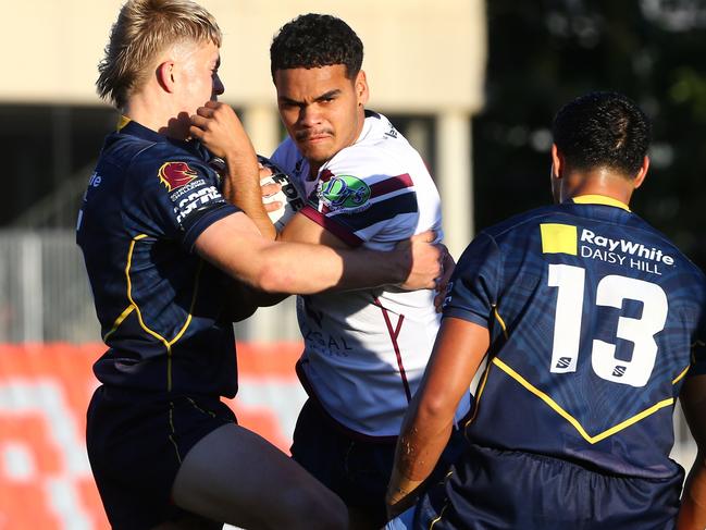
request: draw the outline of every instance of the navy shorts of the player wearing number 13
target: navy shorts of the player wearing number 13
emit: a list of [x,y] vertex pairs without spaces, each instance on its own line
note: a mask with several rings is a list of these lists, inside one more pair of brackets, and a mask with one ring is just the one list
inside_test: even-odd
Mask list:
[[470,445],[417,504],[414,529],[672,530],[682,472],[609,476],[567,460]]

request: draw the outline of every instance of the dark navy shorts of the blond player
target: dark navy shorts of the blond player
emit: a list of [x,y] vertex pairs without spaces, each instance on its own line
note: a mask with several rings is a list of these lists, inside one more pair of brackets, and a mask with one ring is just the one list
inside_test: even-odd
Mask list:
[[86,446],[112,528],[147,530],[189,517],[171,502],[176,472],[199,440],[233,422],[218,397],[99,386],[88,406]]

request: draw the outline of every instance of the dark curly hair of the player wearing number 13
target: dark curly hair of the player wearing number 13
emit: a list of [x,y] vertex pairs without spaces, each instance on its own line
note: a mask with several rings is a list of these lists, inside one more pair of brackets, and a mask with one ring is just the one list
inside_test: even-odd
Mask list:
[[634,177],[647,153],[651,123],[630,98],[595,91],[557,112],[553,134],[569,168],[610,168]]

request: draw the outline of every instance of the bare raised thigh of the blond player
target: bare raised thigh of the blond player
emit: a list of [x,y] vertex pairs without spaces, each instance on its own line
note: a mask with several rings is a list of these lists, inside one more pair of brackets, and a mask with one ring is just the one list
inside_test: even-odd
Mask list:
[[226,424],[186,455],[174,503],[248,529],[345,529],[344,503],[297,463],[253,432]]

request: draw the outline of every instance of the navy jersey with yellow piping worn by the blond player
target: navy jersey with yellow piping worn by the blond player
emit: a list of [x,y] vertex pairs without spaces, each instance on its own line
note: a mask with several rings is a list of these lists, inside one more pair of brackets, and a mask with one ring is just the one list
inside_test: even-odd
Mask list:
[[127,122],[109,135],[78,214],[101,335],[104,384],[232,397],[227,276],[193,251],[226,204],[209,153]]

